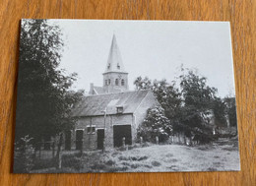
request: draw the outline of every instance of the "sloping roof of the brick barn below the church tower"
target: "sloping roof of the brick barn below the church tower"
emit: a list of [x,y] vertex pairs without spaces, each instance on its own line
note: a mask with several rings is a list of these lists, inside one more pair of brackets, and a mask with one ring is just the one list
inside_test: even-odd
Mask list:
[[73,111],[73,116],[116,114],[116,107],[123,106],[123,113],[133,113],[151,91],[105,93],[86,96]]

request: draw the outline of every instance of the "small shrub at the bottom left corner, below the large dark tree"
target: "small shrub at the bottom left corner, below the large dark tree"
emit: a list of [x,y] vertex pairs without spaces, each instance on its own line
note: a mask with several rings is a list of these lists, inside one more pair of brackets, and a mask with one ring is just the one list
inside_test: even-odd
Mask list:
[[21,138],[15,145],[14,172],[27,173],[32,169],[34,148],[31,144],[32,138],[29,135]]

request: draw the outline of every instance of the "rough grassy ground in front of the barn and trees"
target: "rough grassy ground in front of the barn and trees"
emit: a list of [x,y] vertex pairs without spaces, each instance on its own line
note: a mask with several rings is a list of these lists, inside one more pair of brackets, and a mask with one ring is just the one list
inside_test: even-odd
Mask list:
[[[229,142],[229,141],[228,141]],[[187,147],[150,145],[132,150],[108,150],[63,155],[62,169],[44,172],[158,172],[239,170],[237,143],[221,140],[213,145]],[[36,172],[36,170],[34,170]]]

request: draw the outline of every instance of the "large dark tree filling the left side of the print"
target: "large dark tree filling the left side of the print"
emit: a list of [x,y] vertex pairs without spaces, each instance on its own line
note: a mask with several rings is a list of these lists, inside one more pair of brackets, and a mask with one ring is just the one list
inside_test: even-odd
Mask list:
[[59,69],[63,45],[58,26],[46,20],[22,21],[16,141],[30,135],[34,145],[75,124],[71,110],[83,92],[71,92],[77,75]]

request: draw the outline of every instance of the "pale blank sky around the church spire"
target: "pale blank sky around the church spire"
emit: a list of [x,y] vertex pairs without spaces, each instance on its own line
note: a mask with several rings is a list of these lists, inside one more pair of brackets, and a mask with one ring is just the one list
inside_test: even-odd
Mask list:
[[139,77],[171,82],[180,66],[197,69],[218,95],[234,95],[234,75],[228,22],[51,20],[64,38],[60,67],[78,73],[73,88],[89,92],[102,86],[113,34],[129,73],[131,91]]

